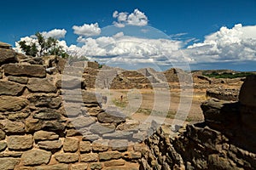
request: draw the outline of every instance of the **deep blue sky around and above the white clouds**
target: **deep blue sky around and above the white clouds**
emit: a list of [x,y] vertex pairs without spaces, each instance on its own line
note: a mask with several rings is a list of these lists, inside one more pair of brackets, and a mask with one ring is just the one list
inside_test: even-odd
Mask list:
[[[229,32],[237,24],[241,24],[239,31],[242,30],[244,32],[246,30],[247,35],[250,35],[248,30],[252,31],[255,27],[251,27],[251,29],[243,29],[243,27],[256,25],[255,0],[3,1],[0,6],[0,41],[8,42],[15,47],[15,41],[19,41],[20,37],[30,36],[37,31],[65,29],[67,33],[65,34],[65,38],[63,37],[62,39],[65,39],[67,46],[75,44],[81,47],[83,44],[81,45],[81,42],[78,42],[77,38],[81,35],[83,38],[89,38],[89,36],[74,34],[73,26],[97,23],[98,27],[102,30],[101,33],[106,33],[104,27],[111,26],[113,25],[113,21],[118,20],[118,18],[113,18],[114,11],[118,11],[119,13],[126,12],[129,15],[135,9],[138,9],[147,16],[146,26],[162,31],[163,35],[165,34],[167,37],[170,36],[172,40],[181,42],[183,45],[180,45],[178,48],[185,49],[181,53],[189,51],[188,55],[191,54],[193,56],[198,53],[198,51],[195,53],[197,48],[199,48],[200,52],[206,52],[208,49],[205,48],[209,45],[207,42],[195,46],[193,44],[206,41],[206,36],[220,31],[223,26],[226,26],[228,29],[228,31],[224,32]],[[134,28],[134,32],[137,31],[136,29],[142,29],[143,26],[137,26],[138,28]],[[129,30],[129,26],[125,27]],[[107,30],[114,30],[114,27]],[[124,32],[125,36],[131,36],[129,32],[125,31],[125,28],[122,28],[120,31]],[[100,34],[92,36],[92,38],[101,36],[106,35]],[[215,42],[219,42],[216,40],[217,37],[219,36],[210,37],[207,41],[211,42],[210,40],[213,39]],[[149,36],[148,38],[152,37]],[[162,37],[160,36],[160,38]],[[187,40],[189,42],[186,42]],[[242,40],[242,42],[244,41]],[[252,45],[254,41],[249,43]],[[193,50],[187,50],[186,48],[189,46],[193,46]],[[242,46],[241,50],[247,50],[244,47]],[[227,58],[223,54],[220,54],[221,61],[219,62],[212,60],[216,58],[216,55],[211,56],[211,59],[206,59],[203,62],[198,62],[201,58],[195,56],[195,60],[197,59],[197,61],[191,62],[190,67],[192,69],[234,68],[236,70],[255,70],[253,64],[255,64],[256,53],[252,54],[249,58],[241,59],[240,55],[231,53],[230,49],[228,50],[226,46],[221,48],[221,50],[227,50],[227,53],[234,56]],[[250,48],[250,50],[254,50],[254,48]],[[210,51],[212,53],[212,48]],[[240,51],[237,51],[237,53],[240,53]],[[206,52],[206,56],[201,57],[205,58],[207,56],[208,51]],[[224,60],[222,60],[223,58]],[[205,65],[207,65],[207,68],[205,68]]]

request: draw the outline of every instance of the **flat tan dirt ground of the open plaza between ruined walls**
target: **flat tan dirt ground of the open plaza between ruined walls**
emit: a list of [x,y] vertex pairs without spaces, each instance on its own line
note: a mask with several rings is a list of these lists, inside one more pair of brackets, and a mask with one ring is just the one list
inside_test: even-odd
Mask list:
[[202,122],[200,106],[207,99],[206,89],[125,89],[109,90],[103,95],[108,97],[107,105],[118,107],[132,120],[160,119],[166,124],[181,116],[185,123]]

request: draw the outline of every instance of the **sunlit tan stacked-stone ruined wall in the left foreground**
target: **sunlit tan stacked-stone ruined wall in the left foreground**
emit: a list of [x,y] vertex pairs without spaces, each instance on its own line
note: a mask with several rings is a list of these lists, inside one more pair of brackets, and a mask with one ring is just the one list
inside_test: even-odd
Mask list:
[[64,64],[0,49],[0,169],[138,169],[138,130]]

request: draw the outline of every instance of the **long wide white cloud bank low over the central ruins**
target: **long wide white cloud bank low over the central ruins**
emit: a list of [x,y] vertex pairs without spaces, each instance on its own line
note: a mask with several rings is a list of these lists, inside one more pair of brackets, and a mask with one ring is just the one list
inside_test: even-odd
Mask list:
[[125,36],[123,32],[112,37],[79,37],[78,41],[84,45],[80,48],[73,48],[73,53],[102,63],[108,62],[109,64],[118,61],[123,64],[166,65],[170,62],[187,61],[176,52],[183,45],[183,42],[179,41],[131,37]]

